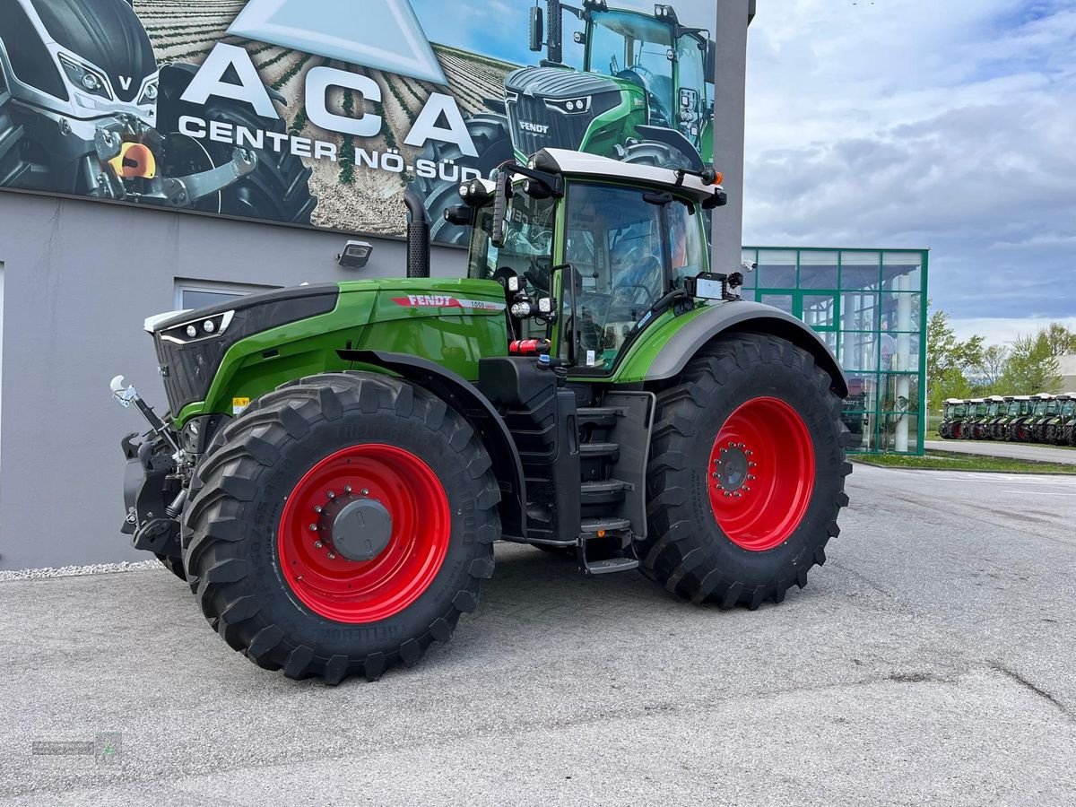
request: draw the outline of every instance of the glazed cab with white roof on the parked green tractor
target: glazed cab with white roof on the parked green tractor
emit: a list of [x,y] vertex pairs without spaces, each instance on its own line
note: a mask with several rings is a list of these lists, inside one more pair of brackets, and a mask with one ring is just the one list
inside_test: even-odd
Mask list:
[[447,215],[473,222],[468,277],[506,286],[512,341],[549,340],[574,376],[600,377],[643,330],[732,297],[699,214],[723,203],[716,179],[547,150],[465,183]]

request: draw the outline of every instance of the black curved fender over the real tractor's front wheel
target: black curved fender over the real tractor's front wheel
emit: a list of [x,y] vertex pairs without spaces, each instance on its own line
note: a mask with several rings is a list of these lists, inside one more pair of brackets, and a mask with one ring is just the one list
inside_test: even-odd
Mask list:
[[501,533],[518,539],[526,536],[526,481],[515,441],[504,420],[473,384],[462,376],[425,358],[383,351],[337,351],[340,358],[359,362],[397,373],[451,404],[475,428],[493,459],[500,485]]

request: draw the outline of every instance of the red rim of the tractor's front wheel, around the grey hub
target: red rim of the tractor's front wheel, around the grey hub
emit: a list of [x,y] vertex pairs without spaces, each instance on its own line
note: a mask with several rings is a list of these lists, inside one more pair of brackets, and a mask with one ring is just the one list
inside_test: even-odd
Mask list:
[[[387,544],[369,561],[349,560],[332,543],[334,514],[358,498],[380,502],[392,519]],[[277,547],[284,580],[303,605],[365,623],[399,613],[429,587],[451,533],[449,498],[430,467],[395,445],[365,443],[330,454],[299,480]]]

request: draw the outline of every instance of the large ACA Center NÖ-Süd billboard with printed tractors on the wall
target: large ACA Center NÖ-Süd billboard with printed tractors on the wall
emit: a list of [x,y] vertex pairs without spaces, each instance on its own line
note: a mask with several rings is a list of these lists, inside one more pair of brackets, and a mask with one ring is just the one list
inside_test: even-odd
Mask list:
[[700,167],[713,0],[0,0],[0,188],[434,238],[542,147]]

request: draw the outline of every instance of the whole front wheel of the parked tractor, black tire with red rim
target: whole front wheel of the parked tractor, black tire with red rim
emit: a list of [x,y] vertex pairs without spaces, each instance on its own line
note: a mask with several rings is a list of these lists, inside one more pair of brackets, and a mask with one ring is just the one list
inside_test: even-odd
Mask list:
[[185,514],[210,624],[291,678],[378,678],[448,641],[493,572],[500,494],[440,398],[372,373],[316,376],[218,436]]

